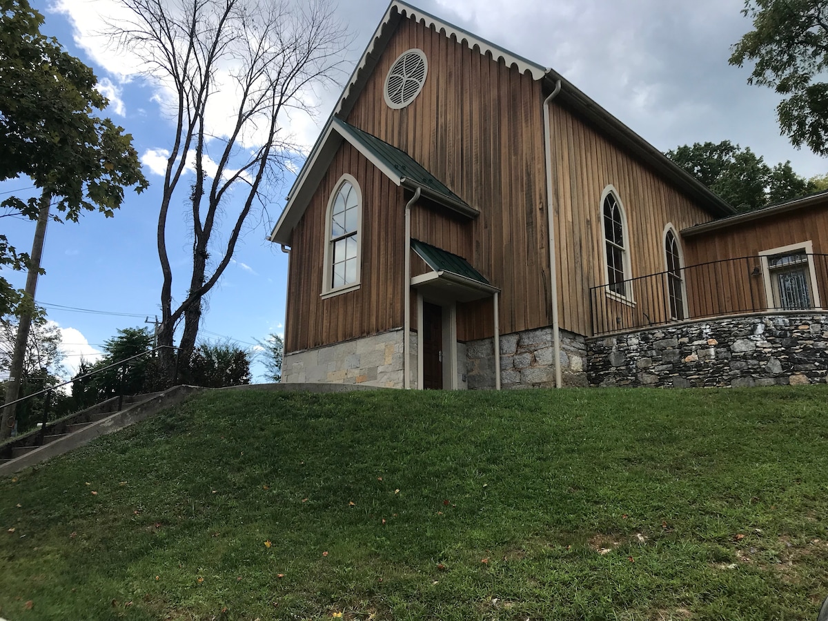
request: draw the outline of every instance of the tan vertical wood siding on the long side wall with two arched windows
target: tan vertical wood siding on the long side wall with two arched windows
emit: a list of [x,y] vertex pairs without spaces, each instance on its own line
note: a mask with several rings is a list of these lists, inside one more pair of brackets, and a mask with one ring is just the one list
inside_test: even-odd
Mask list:
[[597,303],[590,304],[590,287],[607,282],[601,204],[604,188],[614,186],[627,216],[626,246],[633,278],[667,269],[663,233],[668,223],[677,234],[710,221],[712,216],[554,101],[551,147],[561,328],[589,336],[591,313],[600,319],[600,315],[642,315],[647,310],[654,312],[654,306],[663,307],[667,301],[661,287],[638,292],[634,306],[605,295],[595,296]]

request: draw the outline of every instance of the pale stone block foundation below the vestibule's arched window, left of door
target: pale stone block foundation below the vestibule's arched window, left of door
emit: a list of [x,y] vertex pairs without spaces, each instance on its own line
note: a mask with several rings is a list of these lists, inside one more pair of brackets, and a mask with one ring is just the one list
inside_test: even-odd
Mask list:
[[[412,388],[416,388],[416,334],[412,343]],[[358,383],[402,388],[402,330],[286,354],[284,383]]]

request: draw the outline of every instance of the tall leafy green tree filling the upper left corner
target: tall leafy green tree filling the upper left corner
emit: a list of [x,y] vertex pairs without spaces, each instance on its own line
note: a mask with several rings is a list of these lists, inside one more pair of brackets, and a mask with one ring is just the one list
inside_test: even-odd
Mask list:
[[[22,259],[0,237],[0,265],[28,269],[6,402],[17,399],[26,339],[34,312],[37,277],[49,219],[77,221],[84,210],[107,217],[123,202],[124,188],[147,186],[132,137],[108,118],[99,118],[108,102],[96,89],[97,78],[54,39],[43,36],[41,13],[28,0],[0,0],[0,181],[28,176],[40,195],[29,200],[12,196],[2,207],[37,220],[31,255]],[[20,300],[5,280],[0,282],[0,310]],[[0,440],[11,433],[15,407],[4,407]]]

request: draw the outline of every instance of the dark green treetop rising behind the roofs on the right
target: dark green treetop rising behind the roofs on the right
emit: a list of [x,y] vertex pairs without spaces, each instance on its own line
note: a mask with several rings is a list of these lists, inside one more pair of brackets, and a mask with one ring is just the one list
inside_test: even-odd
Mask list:
[[760,209],[816,190],[793,171],[790,161],[772,168],[749,147],[743,149],[729,140],[683,145],[666,155],[739,211]]

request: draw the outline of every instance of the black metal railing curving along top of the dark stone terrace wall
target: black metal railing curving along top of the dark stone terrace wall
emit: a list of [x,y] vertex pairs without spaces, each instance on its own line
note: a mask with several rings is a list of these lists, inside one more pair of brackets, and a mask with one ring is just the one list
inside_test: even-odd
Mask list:
[[590,288],[593,335],[767,310],[821,308],[828,255],[787,253],[699,263]]

